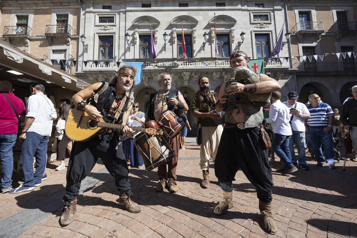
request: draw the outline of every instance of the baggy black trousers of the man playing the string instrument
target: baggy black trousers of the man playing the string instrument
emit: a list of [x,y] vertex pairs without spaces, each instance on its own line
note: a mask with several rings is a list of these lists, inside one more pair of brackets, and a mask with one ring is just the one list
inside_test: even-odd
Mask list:
[[126,191],[130,196],[129,169],[121,144],[115,149],[115,138],[108,141],[109,135],[99,135],[90,141],[73,143],[70,160],[67,169],[66,194],[63,200],[69,206],[73,196],[79,193],[81,181],[87,177],[95,166],[98,158],[101,158],[106,169],[115,177],[115,185],[118,191]]

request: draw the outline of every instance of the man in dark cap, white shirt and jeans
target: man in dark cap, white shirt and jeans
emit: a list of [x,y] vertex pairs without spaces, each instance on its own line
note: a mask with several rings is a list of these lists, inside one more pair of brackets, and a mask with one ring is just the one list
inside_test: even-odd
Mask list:
[[309,170],[306,165],[306,149],[305,149],[305,125],[304,119],[310,118],[310,112],[307,110],[305,104],[297,102],[297,92],[289,92],[287,101],[283,102],[285,106],[290,110],[290,125],[292,136],[289,141],[289,148],[291,153],[291,162],[297,166],[297,160],[294,151],[294,140],[297,148],[297,154],[299,155],[299,167],[304,170]]

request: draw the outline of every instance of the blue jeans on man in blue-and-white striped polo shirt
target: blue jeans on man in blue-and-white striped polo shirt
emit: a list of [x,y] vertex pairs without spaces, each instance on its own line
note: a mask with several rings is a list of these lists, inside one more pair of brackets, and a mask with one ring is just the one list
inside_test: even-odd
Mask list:
[[312,150],[315,154],[317,162],[325,163],[323,158],[323,153],[321,150],[321,145],[325,151],[326,164],[335,164],[333,162],[333,133],[330,130],[327,134],[323,132],[323,127],[321,128],[312,128],[309,126],[309,139],[311,142]]

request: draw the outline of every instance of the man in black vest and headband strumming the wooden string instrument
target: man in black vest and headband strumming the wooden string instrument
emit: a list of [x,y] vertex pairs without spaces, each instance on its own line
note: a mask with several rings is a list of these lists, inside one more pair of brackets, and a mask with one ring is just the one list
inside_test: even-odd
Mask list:
[[[110,83],[94,83],[76,93],[72,97],[72,102],[77,105],[77,110],[86,112],[94,120],[102,118],[105,122],[125,125],[132,108],[126,91],[131,92],[135,72],[135,67],[121,66]],[[92,106],[84,102],[88,98],[91,98]],[[81,120],[77,121],[80,125]],[[101,158],[109,173],[115,177],[120,197],[119,207],[132,213],[141,211],[139,205],[130,199],[132,192],[128,177],[129,169],[119,140],[120,134],[131,133],[132,129],[125,125],[122,130],[107,129],[88,141],[74,142],[67,169],[66,193],[63,197],[65,206],[60,218],[62,226],[67,226],[73,221],[81,181],[95,166],[98,158]]]

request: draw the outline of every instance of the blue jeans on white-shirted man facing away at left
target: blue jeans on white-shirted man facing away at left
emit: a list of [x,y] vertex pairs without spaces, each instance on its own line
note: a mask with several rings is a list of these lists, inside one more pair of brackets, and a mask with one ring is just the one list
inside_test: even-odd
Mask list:
[[[34,187],[40,184],[42,175],[45,173],[47,163],[47,143],[49,136],[41,136],[36,132],[27,132],[26,139],[21,146],[20,166],[24,172],[24,187]],[[33,162],[36,157],[36,172],[34,173]]]

